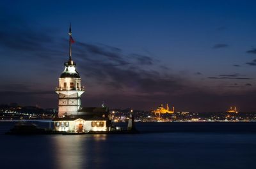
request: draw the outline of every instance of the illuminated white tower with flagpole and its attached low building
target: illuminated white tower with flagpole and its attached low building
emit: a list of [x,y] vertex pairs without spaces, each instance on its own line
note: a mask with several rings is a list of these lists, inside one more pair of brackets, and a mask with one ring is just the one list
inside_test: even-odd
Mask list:
[[65,69],[59,78],[59,86],[56,93],[59,96],[58,117],[54,118],[54,130],[70,133],[82,133],[88,131],[110,131],[111,120],[109,119],[109,108],[81,107],[81,95],[84,86],[76,71],[76,62],[72,60],[71,26],[69,27],[69,59],[65,62]]

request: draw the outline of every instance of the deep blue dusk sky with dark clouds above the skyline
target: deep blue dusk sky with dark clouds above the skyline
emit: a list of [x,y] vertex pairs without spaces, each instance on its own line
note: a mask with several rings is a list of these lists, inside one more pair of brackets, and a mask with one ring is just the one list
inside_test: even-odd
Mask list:
[[72,57],[83,107],[256,111],[256,1],[1,1],[0,103],[58,107]]

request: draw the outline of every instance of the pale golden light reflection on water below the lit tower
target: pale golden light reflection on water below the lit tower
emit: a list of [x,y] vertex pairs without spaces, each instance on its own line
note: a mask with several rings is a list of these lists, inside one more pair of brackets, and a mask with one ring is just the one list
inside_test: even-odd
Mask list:
[[[90,166],[88,161],[100,163],[104,159],[93,154],[101,154],[100,142],[106,140],[107,135],[65,135],[52,137],[52,155],[55,156],[55,168],[84,168]],[[93,143],[95,142],[95,143]],[[95,166],[93,167],[95,168]]]

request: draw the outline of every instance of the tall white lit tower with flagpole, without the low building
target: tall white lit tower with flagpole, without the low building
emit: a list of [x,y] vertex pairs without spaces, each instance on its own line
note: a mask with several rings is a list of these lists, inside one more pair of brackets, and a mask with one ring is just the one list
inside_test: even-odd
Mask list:
[[76,71],[76,62],[72,61],[71,45],[74,43],[72,39],[71,24],[69,25],[69,59],[65,62],[65,69],[59,78],[59,87],[56,92],[59,95],[59,112],[58,117],[64,115],[77,115],[81,107],[81,94],[84,87],[81,86],[81,78]]

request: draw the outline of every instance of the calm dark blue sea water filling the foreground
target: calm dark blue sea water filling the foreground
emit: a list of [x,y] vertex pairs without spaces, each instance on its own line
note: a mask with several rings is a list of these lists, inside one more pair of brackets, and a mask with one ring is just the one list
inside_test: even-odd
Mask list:
[[255,168],[256,161],[255,133],[0,135],[0,145],[1,169]]

